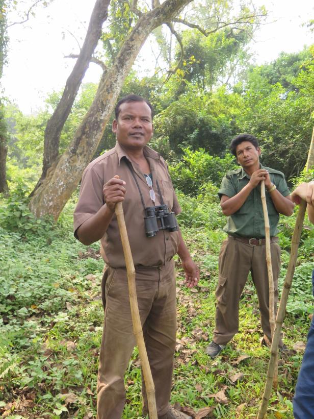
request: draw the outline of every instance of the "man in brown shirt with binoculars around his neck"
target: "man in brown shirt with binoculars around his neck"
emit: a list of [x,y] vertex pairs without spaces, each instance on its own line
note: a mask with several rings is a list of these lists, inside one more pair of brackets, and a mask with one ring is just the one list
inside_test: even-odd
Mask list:
[[[122,202],[136,268],[139,311],[159,419],[188,418],[169,405],[176,342],[173,256],[177,253],[193,287],[199,271],[179,230],[145,233],[145,208],[166,204],[180,212],[167,164],[146,144],[150,140],[152,107],[141,96],[122,98],[115,109],[114,149],[84,171],[74,212],[74,234],[88,245],[101,241],[108,268],[102,279],[104,326],[98,371],[98,419],[120,419],[125,403],[124,374],[135,345],[122,243],[115,205]],[[147,400],[143,384],[143,414]]]

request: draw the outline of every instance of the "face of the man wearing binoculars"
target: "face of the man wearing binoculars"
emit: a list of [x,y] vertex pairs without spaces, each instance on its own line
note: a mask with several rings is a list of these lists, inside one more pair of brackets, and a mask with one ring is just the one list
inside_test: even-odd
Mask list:
[[122,103],[118,120],[113,121],[112,131],[124,149],[143,149],[153,134],[151,110],[147,103]]

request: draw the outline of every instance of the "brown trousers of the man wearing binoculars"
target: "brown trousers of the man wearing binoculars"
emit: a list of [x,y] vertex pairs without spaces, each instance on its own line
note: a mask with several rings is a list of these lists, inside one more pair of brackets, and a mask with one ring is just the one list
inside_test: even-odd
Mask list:
[[[169,410],[176,343],[174,262],[136,267],[138,305],[147,355],[161,416]],[[97,418],[120,419],[125,404],[124,374],[135,346],[125,268],[109,267],[103,276],[104,326],[99,356]],[[145,385],[142,388],[146,413]]]

